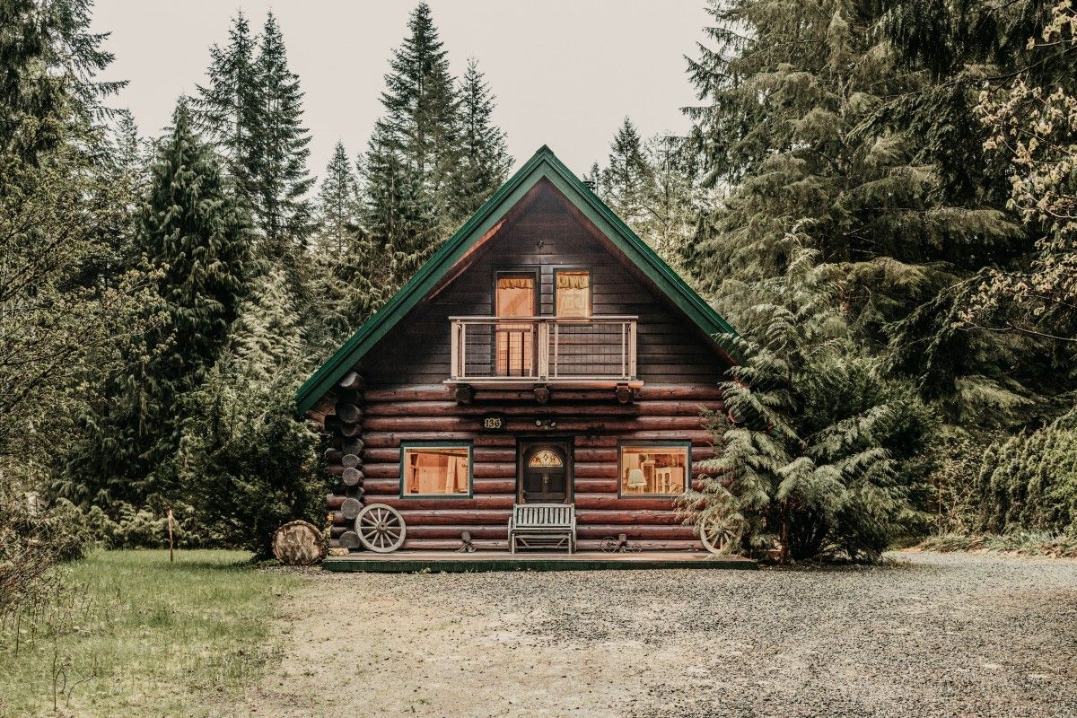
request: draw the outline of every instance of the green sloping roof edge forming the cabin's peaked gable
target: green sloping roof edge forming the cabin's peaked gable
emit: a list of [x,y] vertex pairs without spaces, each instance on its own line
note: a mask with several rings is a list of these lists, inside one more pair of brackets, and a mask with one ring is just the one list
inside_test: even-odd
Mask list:
[[306,412],[434,288],[449,270],[537,182],[546,179],[619,248],[709,336],[737,332],[565,167],[545,144],[438,249],[392,299],[353,334],[296,392]]

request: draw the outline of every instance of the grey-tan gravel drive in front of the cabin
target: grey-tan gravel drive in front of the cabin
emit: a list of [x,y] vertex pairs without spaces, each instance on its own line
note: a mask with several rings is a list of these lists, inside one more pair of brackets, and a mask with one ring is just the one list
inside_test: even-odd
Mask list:
[[324,575],[243,716],[1077,715],[1077,561]]

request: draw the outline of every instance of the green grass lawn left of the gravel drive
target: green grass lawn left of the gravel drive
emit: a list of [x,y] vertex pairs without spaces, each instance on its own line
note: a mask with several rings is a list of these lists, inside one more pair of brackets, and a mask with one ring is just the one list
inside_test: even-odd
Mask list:
[[2,718],[211,715],[261,678],[275,607],[305,581],[241,551],[97,551],[66,571],[55,605],[0,623]]

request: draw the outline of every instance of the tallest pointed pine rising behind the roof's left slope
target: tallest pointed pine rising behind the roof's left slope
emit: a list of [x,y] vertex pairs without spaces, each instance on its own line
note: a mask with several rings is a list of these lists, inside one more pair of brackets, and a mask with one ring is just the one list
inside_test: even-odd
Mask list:
[[408,18],[408,36],[393,51],[377,130],[415,175],[437,231],[454,224],[453,198],[463,147],[460,100],[430,5],[420,2]]

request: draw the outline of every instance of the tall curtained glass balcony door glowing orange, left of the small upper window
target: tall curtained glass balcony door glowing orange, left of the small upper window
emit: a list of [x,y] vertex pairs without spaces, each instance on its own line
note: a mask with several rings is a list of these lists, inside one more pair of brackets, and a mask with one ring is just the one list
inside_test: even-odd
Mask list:
[[505,322],[502,318],[535,315],[534,274],[499,274],[494,299],[494,376],[532,377],[535,361],[534,322]]

